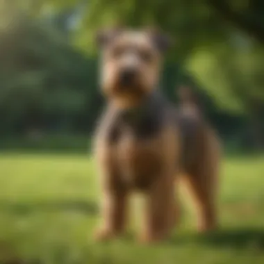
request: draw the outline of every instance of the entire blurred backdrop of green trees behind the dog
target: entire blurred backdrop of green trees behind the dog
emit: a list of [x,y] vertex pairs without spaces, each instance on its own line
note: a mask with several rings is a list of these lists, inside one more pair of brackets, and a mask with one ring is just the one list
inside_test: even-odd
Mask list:
[[226,145],[264,146],[264,1],[1,0],[1,138],[90,135],[104,100],[98,28],[158,26],[174,38],[162,88],[191,85]]

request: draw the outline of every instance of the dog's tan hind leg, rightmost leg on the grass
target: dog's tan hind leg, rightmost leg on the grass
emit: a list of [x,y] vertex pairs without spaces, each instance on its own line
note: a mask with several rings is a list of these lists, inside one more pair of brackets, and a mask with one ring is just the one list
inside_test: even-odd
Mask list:
[[217,197],[220,170],[220,141],[211,129],[203,131],[204,138],[197,144],[195,163],[183,172],[183,183],[188,188],[197,211],[198,231],[210,231],[218,226]]

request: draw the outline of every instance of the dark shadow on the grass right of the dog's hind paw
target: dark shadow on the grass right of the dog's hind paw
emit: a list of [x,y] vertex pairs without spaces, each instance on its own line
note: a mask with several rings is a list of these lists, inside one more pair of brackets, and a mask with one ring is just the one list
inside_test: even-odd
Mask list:
[[240,228],[215,231],[204,235],[179,236],[176,235],[170,240],[172,244],[183,242],[195,242],[199,245],[209,247],[222,247],[229,249],[264,249],[264,229],[261,228]]

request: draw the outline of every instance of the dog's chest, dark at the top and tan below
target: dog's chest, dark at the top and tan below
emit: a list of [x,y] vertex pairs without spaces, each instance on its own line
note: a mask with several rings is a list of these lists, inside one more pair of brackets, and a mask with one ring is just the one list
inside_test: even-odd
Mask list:
[[145,189],[160,170],[160,131],[157,116],[121,119],[115,135],[116,162],[124,183]]

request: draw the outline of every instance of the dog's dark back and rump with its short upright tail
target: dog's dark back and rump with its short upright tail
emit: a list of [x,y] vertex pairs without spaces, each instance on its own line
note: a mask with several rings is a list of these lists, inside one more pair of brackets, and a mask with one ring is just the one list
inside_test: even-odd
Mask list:
[[181,88],[178,93],[177,124],[181,131],[182,170],[192,173],[215,148],[219,151],[217,135],[204,119],[199,100],[189,88]]

